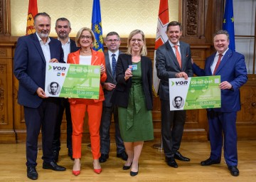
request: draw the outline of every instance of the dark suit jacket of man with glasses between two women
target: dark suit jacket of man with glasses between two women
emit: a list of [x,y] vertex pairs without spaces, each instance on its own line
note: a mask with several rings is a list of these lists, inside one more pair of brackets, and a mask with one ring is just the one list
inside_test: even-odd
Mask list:
[[[119,55],[123,54],[121,51],[119,51]],[[105,82],[111,82],[114,85],[117,85],[116,81],[116,73],[112,75],[112,68],[110,65],[110,56],[108,51],[105,53],[105,62],[106,62],[106,70],[107,70],[107,80]],[[104,97],[105,101],[103,101],[103,107],[112,107],[112,103],[110,102],[110,99],[112,97],[113,91],[114,90],[103,90],[104,91]]]

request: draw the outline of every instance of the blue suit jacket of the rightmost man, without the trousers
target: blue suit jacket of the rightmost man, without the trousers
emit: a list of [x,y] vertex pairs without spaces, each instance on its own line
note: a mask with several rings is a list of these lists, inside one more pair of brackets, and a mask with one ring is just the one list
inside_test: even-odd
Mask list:
[[[194,73],[198,76],[213,75],[210,66],[213,64],[214,57],[215,53],[206,58],[204,69],[199,68],[194,63]],[[215,75],[220,75],[220,82],[230,82],[233,89],[221,90],[221,107],[213,110],[215,112],[237,112],[241,109],[239,88],[247,82],[245,56],[229,49],[221,60]]]

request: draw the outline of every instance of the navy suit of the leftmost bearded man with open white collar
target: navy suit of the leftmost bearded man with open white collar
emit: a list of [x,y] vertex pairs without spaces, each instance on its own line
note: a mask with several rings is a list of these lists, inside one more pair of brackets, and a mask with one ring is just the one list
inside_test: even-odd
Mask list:
[[[50,58],[63,61],[60,41],[50,38]],[[38,97],[38,87],[45,88],[46,62],[36,33],[18,38],[14,54],[14,75],[19,81],[18,104],[24,106],[26,122],[26,165],[36,166],[38,135],[41,129],[43,161],[53,160],[52,141],[60,100],[56,97]]]

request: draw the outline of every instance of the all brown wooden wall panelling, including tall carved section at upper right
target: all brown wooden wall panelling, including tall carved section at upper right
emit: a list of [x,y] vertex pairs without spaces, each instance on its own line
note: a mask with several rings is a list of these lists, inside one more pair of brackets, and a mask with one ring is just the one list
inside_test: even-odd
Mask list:
[[[2,1],[0,1],[2,2]],[[181,1],[182,41],[191,44],[193,60],[203,68],[204,60],[213,53],[212,35],[221,28],[223,15],[222,0]],[[215,11],[218,9],[218,11]],[[23,107],[17,103],[18,80],[13,75],[13,58],[17,37],[10,36],[9,0],[0,3],[0,143],[26,141],[26,124]],[[9,23],[10,24],[10,23]],[[147,38],[148,56],[154,58],[154,38]],[[127,38],[122,38],[120,50],[127,50]],[[249,75],[248,82],[241,88],[242,110],[238,112],[238,139],[256,139],[256,77]],[[154,97],[153,122],[154,141],[161,141],[161,105],[159,97]],[[113,122],[113,121],[112,121]],[[66,121],[63,117],[61,140],[65,141]],[[114,141],[114,124],[110,129]],[[205,109],[188,110],[183,140],[206,141],[208,121]],[[90,134],[85,117],[82,141],[89,142]]]

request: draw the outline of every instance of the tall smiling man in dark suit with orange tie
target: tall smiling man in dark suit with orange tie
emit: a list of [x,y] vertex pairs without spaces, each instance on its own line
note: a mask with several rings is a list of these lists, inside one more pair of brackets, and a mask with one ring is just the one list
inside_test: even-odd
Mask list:
[[175,159],[190,161],[178,149],[181,145],[186,111],[170,111],[169,78],[193,76],[191,49],[187,43],[179,41],[182,35],[181,23],[171,21],[166,29],[169,41],[156,50],[156,71],[160,79],[159,96],[161,100],[161,134],[166,162],[177,168]]

